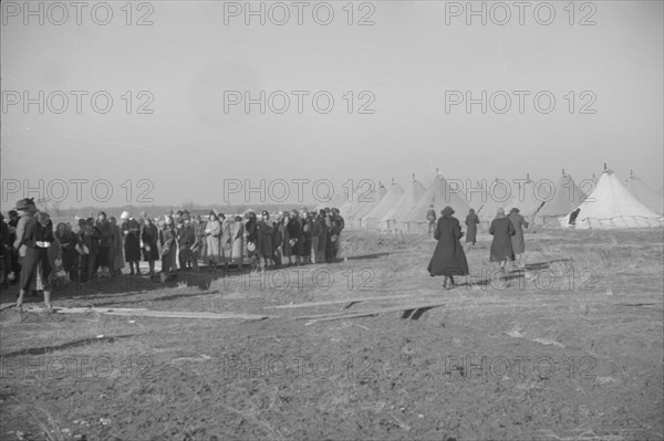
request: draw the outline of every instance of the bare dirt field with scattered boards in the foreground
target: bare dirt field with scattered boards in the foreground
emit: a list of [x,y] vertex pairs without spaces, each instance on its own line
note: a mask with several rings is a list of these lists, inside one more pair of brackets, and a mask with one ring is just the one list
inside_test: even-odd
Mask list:
[[54,294],[262,319],[6,308],[0,439],[662,440],[662,230],[526,238],[506,281],[480,237],[450,291],[433,239],[347,232],[336,264]]

